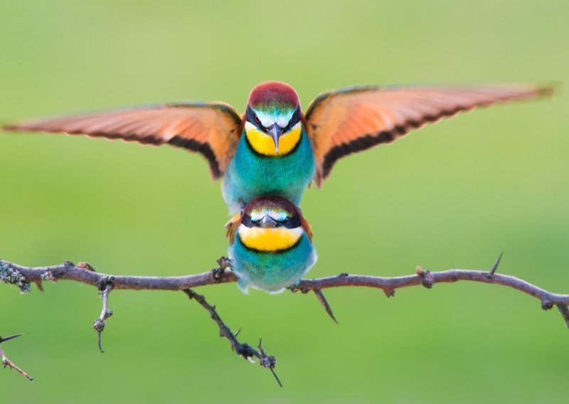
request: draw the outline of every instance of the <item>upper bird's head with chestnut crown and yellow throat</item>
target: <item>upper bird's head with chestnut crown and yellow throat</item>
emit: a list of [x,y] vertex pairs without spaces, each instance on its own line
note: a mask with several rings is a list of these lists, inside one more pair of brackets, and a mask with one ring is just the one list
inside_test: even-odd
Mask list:
[[302,134],[297,92],[285,83],[261,83],[251,91],[245,112],[245,136],[257,153],[284,156]]

